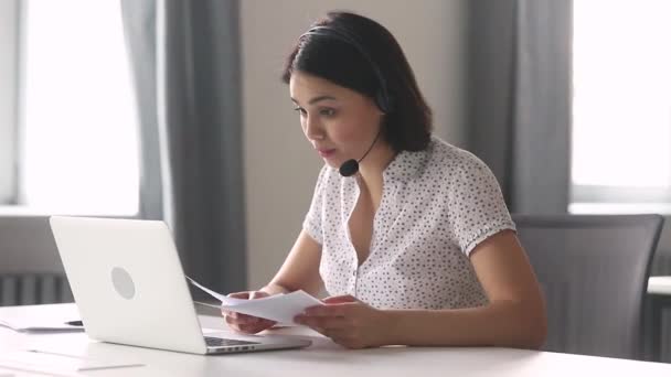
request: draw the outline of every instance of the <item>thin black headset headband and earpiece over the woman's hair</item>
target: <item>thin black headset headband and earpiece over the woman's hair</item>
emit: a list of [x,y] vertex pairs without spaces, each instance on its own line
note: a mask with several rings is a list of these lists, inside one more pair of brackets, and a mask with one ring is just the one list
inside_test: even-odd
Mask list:
[[373,58],[366,52],[366,50],[363,47],[363,45],[359,42],[359,40],[356,39],[355,35],[353,35],[349,31],[340,29],[340,28],[315,26],[315,28],[311,28],[310,30],[308,30],[302,35],[300,35],[299,40],[301,40],[303,36],[307,36],[307,35],[331,37],[333,40],[344,42],[344,43],[349,44],[350,46],[354,47],[356,51],[359,51],[359,54],[361,54],[361,56],[363,56],[363,58],[369,62],[369,65],[373,69],[373,73],[375,74],[375,77],[377,78],[377,83],[380,84],[379,89],[375,91],[375,94],[373,96],[375,105],[377,105],[377,108],[380,108],[380,110],[382,110],[382,112],[384,112],[384,114],[388,114],[393,110],[393,108],[394,108],[393,98],[390,95],[390,91],[388,91],[388,88],[386,85],[386,80],[384,79],[384,76],[382,75],[382,71],[380,69],[380,66],[377,64],[375,64],[375,62],[373,62]]

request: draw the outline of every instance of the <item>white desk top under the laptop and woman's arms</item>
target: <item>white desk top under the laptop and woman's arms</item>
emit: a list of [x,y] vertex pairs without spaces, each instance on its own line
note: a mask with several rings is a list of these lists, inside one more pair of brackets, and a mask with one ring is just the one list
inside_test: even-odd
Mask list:
[[[78,317],[74,304],[0,308],[2,319],[15,315]],[[202,316],[201,321],[206,327],[222,326],[217,317]],[[671,376],[669,364],[490,347],[348,351],[305,328],[278,332],[311,336],[313,345],[298,351],[200,356],[98,343],[89,341],[84,333],[21,334],[0,327],[0,353],[55,349],[71,355],[146,365],[84,374],[90,376]]]

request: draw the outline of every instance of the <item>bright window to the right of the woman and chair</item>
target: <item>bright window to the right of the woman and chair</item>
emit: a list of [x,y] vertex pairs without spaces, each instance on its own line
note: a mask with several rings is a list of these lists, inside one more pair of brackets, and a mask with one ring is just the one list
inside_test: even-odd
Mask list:
[[671,2],[575,1],[573,213],[671,213]]

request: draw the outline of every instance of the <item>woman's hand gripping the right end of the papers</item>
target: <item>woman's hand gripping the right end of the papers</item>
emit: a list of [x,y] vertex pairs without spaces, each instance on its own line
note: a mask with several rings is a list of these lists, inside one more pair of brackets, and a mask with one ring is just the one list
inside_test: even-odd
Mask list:
[[295,317],[333,342],[348,348],[376,347],[387,344],[388,315],[352,295],[322,300],[326,305],[311,306]]

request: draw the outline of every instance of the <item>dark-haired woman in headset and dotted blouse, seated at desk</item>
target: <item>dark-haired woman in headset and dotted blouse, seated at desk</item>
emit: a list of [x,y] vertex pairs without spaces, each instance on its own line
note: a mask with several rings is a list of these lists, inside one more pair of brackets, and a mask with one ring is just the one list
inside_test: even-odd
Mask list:
[[[326,305],[295,321],[350,348],[540,347],[544,301],[499,185],[475,155],[430,134],[430,109],[391,33],[328,13],[299,37],[284,80],[326,164],[280,270],[232,297],[326,287]],[[274,324],[223,314],[244,333]]]

